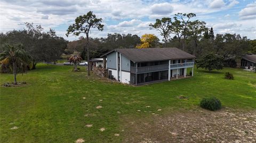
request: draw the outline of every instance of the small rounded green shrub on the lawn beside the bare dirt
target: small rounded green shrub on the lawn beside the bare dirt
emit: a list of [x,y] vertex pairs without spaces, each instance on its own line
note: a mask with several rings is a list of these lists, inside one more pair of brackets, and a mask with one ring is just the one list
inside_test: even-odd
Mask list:
[[216,111],[221,108],[221,102],[215,97],[203,98],[200,102],[200,106],[207,110]]

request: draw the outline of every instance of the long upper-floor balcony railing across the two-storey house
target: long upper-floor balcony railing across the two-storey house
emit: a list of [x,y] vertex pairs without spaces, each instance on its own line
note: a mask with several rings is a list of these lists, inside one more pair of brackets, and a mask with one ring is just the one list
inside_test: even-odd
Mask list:
[[[168,66],[169,64],[138,67],[137,74],[169,70]],[[190,68],[193,66],[194,66],[194,62],[178,63],[178,64],[171,64],[170,69],[173,70],[173,69],[181,69],[181,68]],[[131,66],[131,73],[136,73],[136,67]]]

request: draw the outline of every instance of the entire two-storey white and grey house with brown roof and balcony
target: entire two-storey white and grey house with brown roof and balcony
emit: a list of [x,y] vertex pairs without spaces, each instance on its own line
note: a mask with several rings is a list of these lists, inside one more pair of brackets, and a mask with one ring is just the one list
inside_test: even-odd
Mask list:
[[194,70],[195,59],[178,48],[121,48],[101,57],[107,57],[110,77],[132,85],[186,78],[187,68]]

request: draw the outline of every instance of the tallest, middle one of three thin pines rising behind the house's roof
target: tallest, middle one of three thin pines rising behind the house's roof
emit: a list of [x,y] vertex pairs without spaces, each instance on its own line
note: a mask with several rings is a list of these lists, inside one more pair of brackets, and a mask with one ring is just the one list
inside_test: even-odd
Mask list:
[[174,19],[175,20],[180,19],[181,23],[182,23],[182,36],[183,36],[182,50],[183,51],[185,49],[185,40],[187,38],[189,20],[191,18],[195,17],[195,16],[196,16],[196,14],[194,14],[194,13],[188,13],[188,14],[186,14],[186,13],[177,13],[177,14],[175,14]]

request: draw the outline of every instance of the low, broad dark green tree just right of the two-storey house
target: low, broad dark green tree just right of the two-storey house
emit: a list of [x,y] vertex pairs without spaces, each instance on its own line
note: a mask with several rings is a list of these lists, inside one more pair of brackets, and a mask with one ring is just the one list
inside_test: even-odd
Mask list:
[[210,72],[214,69],[221,70],[223,68],[223,57],[217,54],[209,53],[203,55],[196,62],[196,67],[209,70]]

